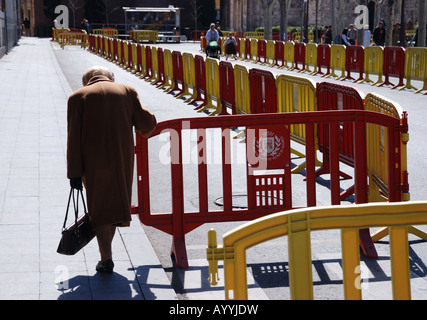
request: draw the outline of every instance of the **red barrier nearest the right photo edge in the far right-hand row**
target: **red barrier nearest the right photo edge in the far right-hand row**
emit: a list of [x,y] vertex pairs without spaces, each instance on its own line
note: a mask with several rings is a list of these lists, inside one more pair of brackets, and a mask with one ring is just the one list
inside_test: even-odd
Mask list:
[[[384,48],[384,76],[385,81],[379,85],[393,86],[392,89],[404,86],[405,78],[405,49],[402,47],[385,47]],[[390,77],[398,77],[399,83],[394,85],[390,82]]]

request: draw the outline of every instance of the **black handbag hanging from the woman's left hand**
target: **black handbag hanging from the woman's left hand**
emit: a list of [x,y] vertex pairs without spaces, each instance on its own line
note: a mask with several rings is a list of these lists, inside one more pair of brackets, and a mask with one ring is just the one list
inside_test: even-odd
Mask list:
[[[77,196],[74,193],[77,191]],[[79,195],[81,195],[84,207],[84,215],[79,215]],[[73,199],[75,220],[72,225],[65,227],[70,209],[70,201]],[[58,245],[57,252],[64,255],[74,255],[79,252],[95,237],[95,232],[90,226],[89,216],[86,210],[86,203],[83,197],[83,191],[71,188],[70,196],[68,197],[67,211],[65,213],[64,225],[62,226],[62,237]]]

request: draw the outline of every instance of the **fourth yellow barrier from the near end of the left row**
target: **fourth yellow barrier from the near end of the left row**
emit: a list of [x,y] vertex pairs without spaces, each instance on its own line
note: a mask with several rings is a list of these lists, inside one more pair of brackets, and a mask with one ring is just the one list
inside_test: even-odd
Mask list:
[[[198,112],[203,112],[208,109],[215,109],[210,116],[220,114],[222,112],[220,87],[219,87],[219,62],[217,59],[206,58],[206,100],[207,105]],[[216,104],[214,103],[216,102]]]

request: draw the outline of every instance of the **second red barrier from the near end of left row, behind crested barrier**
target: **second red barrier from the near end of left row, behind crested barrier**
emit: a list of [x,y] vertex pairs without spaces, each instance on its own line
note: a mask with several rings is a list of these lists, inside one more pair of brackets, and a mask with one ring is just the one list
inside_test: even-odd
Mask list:
[[266,70],[249,70],[251,88],[251,113],[276,113],[276,78]]

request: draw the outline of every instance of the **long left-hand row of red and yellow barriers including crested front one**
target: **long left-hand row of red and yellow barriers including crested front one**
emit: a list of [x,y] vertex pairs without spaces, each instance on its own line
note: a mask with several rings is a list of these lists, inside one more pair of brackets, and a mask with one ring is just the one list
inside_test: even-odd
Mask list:
[[[343,199],[356,194],[356,190],[360,188],[360,185],[363,186],[366,183],[369,192],[367,197],[360,198],[360,196],[356,196],[358,203],[409,200],[406,168],[407,116],[406,113],[402,112],[400,106],[385,98],[369,94],[363,99],[363,93],[359,90],[344,85],[328,82],[316,84],[312,80],[300,76],[280,75],[275,77],[271,72],[265,70],[248,70],[244,66],[233,66],[231,63],[224,61],[218,63],[215,59],[204,59],[200,55],[181,54],[177,51],[171,52],[167,49],[151,48],[150,46],[117,39],[89,36],[89,50],[121,65],[124,69],[151,82],[165,92],[173,93],[176,97],[185,99],[189,104],[197,101],[201,102],[196,107],[198,111],[213,109],[214,111],[211,115],[227,115],[227,117],[235,121],[235,123],[229,123],[225,121],[227,117],[198,120],[203,123],[203,126],[197,127],[200,130],[213,128],[216,125],[218,128],[222,128],[223,134],[228,137],[230,132],[226,128],[238,127],[240,119],[243,121],[247,119],[245,117],[248,116],[244,115],[256,114],[253,119],[259,119],[259,115],[266,113],[270,115],[283,113],[290,118],[304,115],[303,118],[295,118],[300,119],[300,122],[289,123],[285,133],[279,130],[277,136],[284,137],[283,139],[278,138],[276,141],[274,139],[269,140],[267,139],[268,137],[265,139],[273,143],[273,145],[274,143],[283,145],[282,141],[289,143],[292,140],[303,147],[305,146],[305,154],[291,147],[289,147],[289,150],[286,149],[291,153],[304,157],[305,161],[291,169],[289,158],[285,159],[286,161],[283,158],[279,158],[279,163],[288,163],[288,167],[285,168],[284,175],[274,177],[274,179],[265,178],[266,180],[263,180],[262,183],[267,187],[266,190],[253,187],[254,183],[256,185],[260,181],[254,180],[251,174],[246,175],[247,181],[242,185],[248,185],[248,207],[250,212],[244,211],[241,214],[236,214],[234,210],[231,210],[229,206],[231,203],[231,177],[227,175],[230,168],[223,164],[223,188],[227,194],[224,197],[228,205],[225,206],[226,214],[215,214],[215,219],[220,219],[215,221],[228,221],[227,219],[231,217],[237,220],[249,220],[260,215],[260,212],[267,214],[293,208],[289,195],[289,190],[291,190],[289,187],[290,174],[302,172],[304,169],[307,177],[307,206],[317,204],[315,179],[325,173],[331,174],[331,204],[333,205],[340,204]],[[227,109],[231,109],[233,115],[244,117],[230,116]],[[390,129],[389,127],[368,123],[363,129],[356,130],[354,122],[346,122],[345,120],[337,120],[337,123],[331,127],[330,124],[319,122],[319,113],[316,112],[324,111],[322,112],[323,115],[327,114],[327,112],[338,112],[344,115],[344,112],[352,110],[360,112],[371,111],[375,112],[375,114],[382,113],[394,119],[396,122],[395,127]],[[306,118],[308,115],[315,120],[308,120],[309,118]],[[216,118],[221,120],[216,120]],[[285,121],[284,119],[282,120]],[[217,121],[220,122],[217,124]],[[193,122],[195,120],[190,121],[190,123]],[[313,122],[315,122],[315,125],[312,125]],[[180,132],[182,129],[182,124],[180,123],[177,122],[170,128],[160,124],[154,136],[166,129]],[[223,126],[223,123],[227,125]],[[246,127],[244,122],[242,124]],[[268,121],[265,124],[267,125]],[[167,125],[172,125],[172,123],[168,122]],[[249,127],[251,128],[252,126]],[[246,132],[246,143],[248,144],[247,139],[250,132],[247,130],[242,130],[242,132]],[[273,134],[275,129],[271,132]],[[178,133],[178,135],[180,134]],[[198,134],[200,134],[200,139],[203,140],[203,132],[198,130]],[[355,143],[356,136],[357,143]],[[366,141],[366,146],[360,144],[359,139]],[[139,141],[138,143],[143,142]],[[177,145],[179,148],[182,147],[179,141]],[[222,148],[223,154],[226,154],[224,146]],[[361,153],[363,154],[362,160],[357,158],[356,150],[358,148],[366,149],[365,153],[363,151]],[[146,146],[138,146],[137,150],[142,155],[148,154]],[[317,160],[317,151],[323,154],[322,162]],[[367,157],[366,166],[362,164],[362,167],[360,167],[358,162],[363,162],[364,157]],[[222,159],[225,161],[226,156],[223,156]],[[148,160],[141,158],[138,163],[146,161]],[[357,169],[363,172],[363,174],[358,174],[359,178],[355,176],[354,185],[343,192],[341,192],[340,178],[349,179],[351,176],[340,171],[340,162],[349,165],[354,170]],[[148,171],[145,170],[145,166],[145,164],[142,165],[141,170],[138,171],[143,172],[139,181],[148,181]],[[316,170],[316,167],[320,168]],[[199,179],[201,179],[199,180],[199,185],[201,185],[201,188],[207,185],[207,178],[203,173],[206,170],[206,167],[199,168],[198,174]],[[179,176],[182,168],[177,167],[175,171],[172,171],[176,172],[172,176]],[[248,172],[250,173],[250,170]],[[277,184],[273,181],[281,181],[281,183]],[[182,189],[182,181],[180,182],[178,179],[176,183],[176,188]],[[274,186],[275,184],[277,185]],[[140,214],[142,222],[173,235],[173,247],[175,248],[174,253],[177,257],[178,266],[185,267],[187,265],[185,234],[200,224],[189,221],[187,225],[185,222],[190,215],[184,214],[184,211],[181,210],[179,203],[182,204],[183,198],[176,200],[178,202],[176,207],[174,206],[175,209],[172,210],[174,211],[172,214],[152,217],[149,209],[149,199],[147,199],[150,193],[147,186],[148,184],[142,184],[139,189],[139,195],[141,196],[139,203],[144,203],[144,208],[135,209],[134,213]],[[205,194],[206,197],[208,192],[207,189],[203,188],[200,190],[200,195]],[[257,211],[259,208],[257,208],[256,204],[269,203],[268,196],[266,198],[265,195],[273,191],[280,194],[279,198],[283,199],[284,197],[285,200],[277,206],[264,206],[261,211]],[[179,195],[182,197],[180,192],[177,191],[177,194],[173,195],[173,198],[175,196],[179,198]],[[260,194],[264,194],[264,198]],[[196,220],[201,219],[197,221],[203,221],[203,215],[201,217],[200,213],[206,212],[207,198],[199,201],[200,212],[194,216]],[[252,209],[256,209],[256,212],[251,212]],[[211,215],[208,212],[208,216]],[[375,248],[370,243],[371,237],[366,231],[361,232],[361,238],[363,239],[362,249],[366,255],[374,257],[376,256]]]

